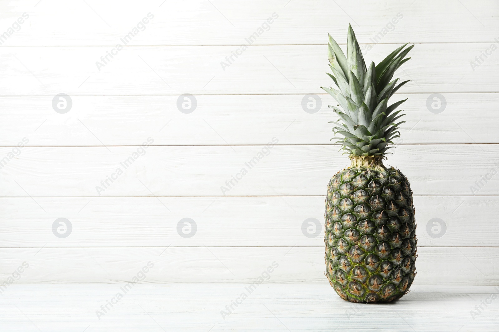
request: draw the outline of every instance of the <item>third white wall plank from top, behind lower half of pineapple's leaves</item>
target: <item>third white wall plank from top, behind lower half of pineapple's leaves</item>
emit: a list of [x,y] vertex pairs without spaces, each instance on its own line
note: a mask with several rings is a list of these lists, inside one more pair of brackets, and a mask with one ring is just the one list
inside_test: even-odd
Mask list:
[[[177,109],[178,96],[73,96],[72,109],[56,113],[51,97],[1,97],[3,134],[0,145],[85,146],[140,145],[154,136],[153,145],[328,144],[333,136],[328,121],[336,116],[327,105],[329,95],[318,95],[321,107],[307,113],[305,95],[196,96],[197,108],[185,114]],[[446,94],[446,108],[432,113],[430,95],[401,94],[409,98],[403,109],[398,144],[499,143],[499,94]],[[334,104],[333,104],[334,105]],[[480,108],[480,116],[470,110]],[[487,119],[484,126],[483,119]],[[96,137],[98,139],[96,139]]]

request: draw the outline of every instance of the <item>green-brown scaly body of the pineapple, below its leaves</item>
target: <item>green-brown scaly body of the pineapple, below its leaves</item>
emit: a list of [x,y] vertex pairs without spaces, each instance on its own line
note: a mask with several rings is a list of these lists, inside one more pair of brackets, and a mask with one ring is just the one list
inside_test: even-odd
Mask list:
[[395,168],[349,167],[329,181],[325,201],[326,276],[350,302],[390,302],[416,276],[412,190]]

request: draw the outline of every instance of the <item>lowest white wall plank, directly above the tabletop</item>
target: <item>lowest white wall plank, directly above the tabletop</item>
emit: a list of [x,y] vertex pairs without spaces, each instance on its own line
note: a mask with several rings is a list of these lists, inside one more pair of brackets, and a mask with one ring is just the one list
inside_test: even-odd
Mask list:
[[[165,250],[166,249],[166,250]],[[147,282],[324,282],[322,247],[1,248],[0,278],[23,262],[19,283],[127,282],[150,261]],[[420,247],[418,284],[497,285],[499,248]]]

